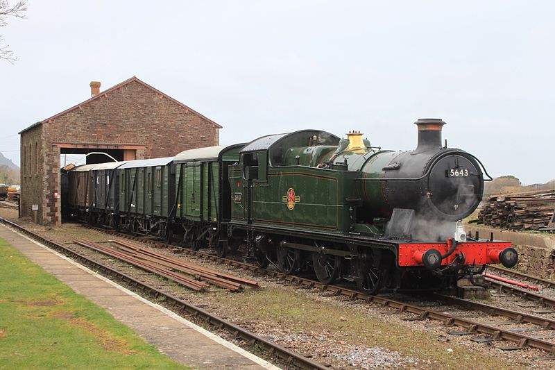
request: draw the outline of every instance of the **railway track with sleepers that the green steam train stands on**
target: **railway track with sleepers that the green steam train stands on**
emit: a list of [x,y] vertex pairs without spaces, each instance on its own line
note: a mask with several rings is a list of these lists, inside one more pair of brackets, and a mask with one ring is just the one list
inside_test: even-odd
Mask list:
[[[117,235],[118,237],[133,239],[140,242],[146,242],[148,244],[151,244],[157,247],[168,246],[168,244],[163,244],[162,242],[157,242],[151,239],[144,239],[142,237],[137,237],[133,235],[117,233],[114,230],[106,230],[103,228],[96,228],[93,226],[87,226],[87,227],[93,228],[95,230],[99,230],[103,233],[108,233],[110,235]],[[236,260],[230,260],[229,258],[221,258],[209,253],[193,251],[191,249],[183,249],[182,252],[188,255],[195,256],[200,259],[210,260],[220,264],[228,265],[230,267],[245,269],[247,271],[250,271],[253,274],[260,274],[271,278],[277,278],[279,280],[283,280],[284,282],[290,283],[291,285],[296,285],[300,288],[318,289],[320,292],[325,292],[326,294],[329,294],[329,295],[346,296],[350,300],[361,300],[367,303],[379,305],[384,308],[391,308],[393,310],[397,310],[397,312],[399,313],[413,314],[413,316],[409,317],[407,320],[430,319],[430,320],[441,321],[443,325],[445,325],[446,327],[456,326],[459,328],[463,328],[462,331],[450,331],[448,333],[452,335],[477,335],[477,338],[475,338],[476,342],[483,343],[483,342],[492,342],[497,340],[507,340],[509,342],[513,342],[516,344],[515,346],[499,346],[499,349],[502,349],[502,350],[515,350],[515,349],[525,348],[529,346],[531,348],[538,348],[540,350],[546,351],[549,355],[549,358],[555,358],[555,343],[543,340],[540,337],[540,335],[536,333],[540,330],[554,330],[555,320],[552,320],[552,319],[546,319],[544,317],[533,316],[531,314],[516,312],[513,310],[506,310],[504,308],[497,308],[495,306],[484,305],[481,303],[466,301],[459,298],[454,298],[449,296],[439,296],[439,295],[437,296],[438,299],[440,299],[441,301],[445,303],[449,303],[451,305],[462,306],[465,308],[469,308],[471,310],[486,312],[492,316],[497,315],[497,316],[506,317],[507,319],[511,320],[511,321],[504,321],[502,323],[497,323],[497,325],[494,325],[493,323],[474,321],[471,319],[466,319],[464,317],[457,317],[456,315],[447,314],[446,312],[438,312],[436,310],[430,310],[429,308],[420,307],[418,305],[410,305],[404,302],[395,301],[390,298],[385,298],[383,296],[368,296],[354,289],[349,289],[349,288],[341,287],[337,285],[325,285],[316,280],[311,280],[309,278],[282,274],[279,271],[262,269],[257,266],[254,266],[253,264],[239,262]],[[527,330],[528,328],[509,328],[509,329],[502,328],[502,326],[508,325],[509,323],[513,325],[518,325],[520,323],[532,324],[533,326],[536,326],[536,327],[529,328],[530,329],[529,331],[535,333],[535,335],[522,334],[522,333],[526,333],[525,330]],[[549,332],[549,334],[543,333],[542,336],[546,338],[551,338],[551,337],[555,338],[555,331]]]

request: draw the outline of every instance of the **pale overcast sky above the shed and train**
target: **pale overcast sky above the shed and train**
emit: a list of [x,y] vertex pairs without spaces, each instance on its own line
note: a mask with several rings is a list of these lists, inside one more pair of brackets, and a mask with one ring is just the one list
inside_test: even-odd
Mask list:
[[[14,0],[10,1],[13,3]],[[223,126],[221,144],[320,128],[416,146],[422,117],[492,176],[555,178],[554,1],[28,1],[0,28],[0,151],[137,76]]]

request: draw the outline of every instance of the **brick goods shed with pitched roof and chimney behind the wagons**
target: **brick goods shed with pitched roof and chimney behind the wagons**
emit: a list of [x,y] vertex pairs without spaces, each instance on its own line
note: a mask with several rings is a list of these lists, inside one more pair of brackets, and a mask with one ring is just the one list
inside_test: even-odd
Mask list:
[[[61,154],[133,160],[219,144],[219,124],[135,76],[104,92],[90,86],[90,99],[19,133],[22,217],[37,205],[40,224],[61,223]],[[89,164],[109,160],[87,156]]]

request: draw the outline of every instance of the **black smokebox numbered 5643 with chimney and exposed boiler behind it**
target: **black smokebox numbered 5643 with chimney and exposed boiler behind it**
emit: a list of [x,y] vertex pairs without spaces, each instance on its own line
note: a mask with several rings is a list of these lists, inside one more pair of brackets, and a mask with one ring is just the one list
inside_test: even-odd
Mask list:
[[418,119],[414,124],[418,126],[415,150],[379,151],[365,157],[359,183],[361,198],[368,205],[366,219],[389,218],[395,208],[414,210],[419,219],[450,223],[468,217],[484,192],[477,160],[460,149],[442,148],[445,122],[441,119]]

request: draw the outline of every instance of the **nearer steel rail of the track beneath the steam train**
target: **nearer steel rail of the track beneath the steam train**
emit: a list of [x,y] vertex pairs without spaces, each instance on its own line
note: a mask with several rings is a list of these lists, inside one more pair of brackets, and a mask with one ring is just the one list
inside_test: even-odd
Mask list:
[[[92,226],[88,226],[92,227]],[[98,229],[103,232],[105,230]],[[110,230],[108,233],[114,234],[115,232]],[[117,233],[117,235],[121,235]],[[135,238],[131,235],[123,234],[121,237],[128,237],[129,239],[136,239],[144,242],[143,239]],[[151,244],[155,244],[157,246],[168,246],[168,244],[163,244],[160,242],[149,241]],[[244,262],[237,262],[234,260],[229,260],[228,258],[221,258],[216,255],[210,255],[207,253],[202,253],[198,251],[193,251],[191,249],[183,249],[184,253],[189,255],[195,255],[200,258],[205,258],[207,260],[212,260],[216,262],[220,262],[222,264],[229,264],[233,267],[244,267],[248,269],[248,271],[252,271],[258,274],[266,275],[273,278],[278,278],[280,280],[287,281],[292,285],[297,285],[298,287],[306,288],[306,289],[319,289],[321,292],[329,292],[333,296],[347,296],[348,298],[355,300],[360,299],[362,301],[366,301],[368,303],[375,303],[377,305],[381,305],[385,308],[393,308],[398,310],[398,312],[409,312],[411,314],[416,314],[416,319],[433,319],[436,321],[442,321],[445,326],[459,326],[461,328],[465,328],[468,334],[486,334],[490,335],[491,339],[499,340],[504,339],[510,342],[515,342],[519,347],[526,347],[530,346],[533,348],[538,348],[543,351],[547,351],[550,355],[555,356],[555,344],[551,342],[547,342],[542,339],[537,339],[534,337],[530,337],[527,335],[522,335],[520,333],[512,332],[511,330],[505,330],[502,328],[495,328],[493,326],[486,325],[484,323],[478,323],[476,321],[472,321],[469,319],[464,319],[462,317],[455,317],[451,314],[446,314],[443,312],[437,312],[434,310],[428,310],[426,308],[421,308],[416,305],[409,305],[407,303],[394,301],[389,298],[384,298],[381,296],[368,296],[367,294],[363,294],[357,290],[348,289],[345,287],[339,287],[336,285],[325,285],[315,280],[310,280],[307,278],[302,278],[299,276],[291,276],[287,274],[283,274],[278,271],[271,271],[268,269],[262,269],[252,264],[246,264]]]

